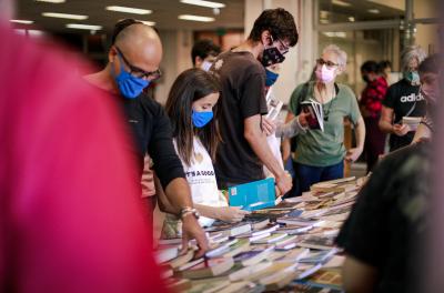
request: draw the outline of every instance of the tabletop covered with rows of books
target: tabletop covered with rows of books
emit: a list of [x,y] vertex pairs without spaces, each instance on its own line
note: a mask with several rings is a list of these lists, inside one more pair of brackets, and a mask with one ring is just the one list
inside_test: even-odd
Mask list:
[[342,292],[344,256],[334,245],[365,178],[314,184],[302,196],[255,210],[241,223],[205,229],[211,250],[180,255],[181,239],[160,240],[157,259],[175,292]]

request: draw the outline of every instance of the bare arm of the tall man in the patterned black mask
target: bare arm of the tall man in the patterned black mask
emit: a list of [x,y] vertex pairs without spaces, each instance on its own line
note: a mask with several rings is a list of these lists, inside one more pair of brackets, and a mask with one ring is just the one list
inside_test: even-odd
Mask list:
[[285,194],[289,192],[292,186],[291,178],[286,175],[270,150],[265,133],[261,130],[260,114],[249,117],[244,120],[244,138],[250,143],[254,153],[275,176],[276,185],[281,193]]

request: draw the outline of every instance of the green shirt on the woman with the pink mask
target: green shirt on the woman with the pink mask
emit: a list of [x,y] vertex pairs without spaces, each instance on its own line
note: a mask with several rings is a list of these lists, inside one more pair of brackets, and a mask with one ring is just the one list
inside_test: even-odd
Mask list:
[[[304,84],[300,84],[291,95],[290,110],[295,115],[301,111],[302,101],[310,98],[315,100],[314,82],[310,82],[309,87]],[[310,129],[305,133],[297,134],[295,162],[327,166],[344,160],[344,118],[349,118],[353,124],[356,124],[361,112],[352,90],[344,84],[336,85],[336,91],[339,90],[336,97],[323,104],[324,117],[329,118],[324,121],[324,131]]]

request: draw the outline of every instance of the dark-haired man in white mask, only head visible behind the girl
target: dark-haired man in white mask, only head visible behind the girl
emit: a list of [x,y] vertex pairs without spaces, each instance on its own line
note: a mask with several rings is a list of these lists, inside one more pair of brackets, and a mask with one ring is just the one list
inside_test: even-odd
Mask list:
[[209,71],[215,58],[221,53],[221,48],[212,40],[199,40],[191,49],[191,61],[194,68]]

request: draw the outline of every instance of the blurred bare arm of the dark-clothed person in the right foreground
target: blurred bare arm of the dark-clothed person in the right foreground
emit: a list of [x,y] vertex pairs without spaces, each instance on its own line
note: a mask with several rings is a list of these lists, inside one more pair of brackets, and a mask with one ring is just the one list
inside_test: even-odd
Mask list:
[[342,269],[345,292],[373,292],[376,284],[376,275],[377,271],[375,267],[365,264],[351,255],[346,255]]

